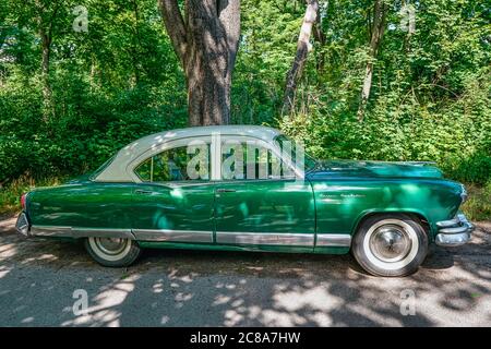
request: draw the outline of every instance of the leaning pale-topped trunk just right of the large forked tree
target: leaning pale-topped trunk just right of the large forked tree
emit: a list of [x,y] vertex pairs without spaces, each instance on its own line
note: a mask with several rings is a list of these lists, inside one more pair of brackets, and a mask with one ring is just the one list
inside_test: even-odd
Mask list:
[[289,115],[295,104],[295,94],[297,91],[297,81],[299,80],[303,67],[306,65],[307,55],[312,49],[310,36],[312,27],[315,24],[319,13],[319,1],[308,0],[306,15],[300,28],[298,37],[297,53],[295,55],[294,64],[287,73],[285,97],[283,101],[283,115]]

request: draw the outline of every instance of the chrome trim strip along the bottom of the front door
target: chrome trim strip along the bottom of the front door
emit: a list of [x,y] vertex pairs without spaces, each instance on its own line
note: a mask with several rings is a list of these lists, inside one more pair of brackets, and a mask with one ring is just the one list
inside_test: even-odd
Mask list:
[[313,233],[276,233],[276,232],[242,232],[242,231],[217,231],[217,243],[231,244],[285,244],[312,246],[314,245]]

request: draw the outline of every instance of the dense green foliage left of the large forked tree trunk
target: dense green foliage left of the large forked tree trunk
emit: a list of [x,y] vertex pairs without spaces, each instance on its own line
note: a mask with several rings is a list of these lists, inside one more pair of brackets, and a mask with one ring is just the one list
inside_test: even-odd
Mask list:
[[[184,82],[155,1],[88,1],[88,33],[72,29],[74,3],[59,3],[49,118],[43,112],[36,7],[13,1],[14,12],[2,22],[0,183],[22,174],[77,174],[140,136],[185,125]],[[45,4],[46,13],[52,11],[52,3]],[[22,21],[29,24],[19,29]]]

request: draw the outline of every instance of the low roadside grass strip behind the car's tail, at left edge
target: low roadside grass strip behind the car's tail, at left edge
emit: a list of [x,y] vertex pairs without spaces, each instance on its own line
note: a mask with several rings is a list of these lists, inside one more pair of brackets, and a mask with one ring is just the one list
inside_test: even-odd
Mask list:
[[45,178],[35,180],[23,176],[0,186],[0,215],[14,214],[21,210],[21,195],[36,186],[51,186],[61,184],[65,178]]

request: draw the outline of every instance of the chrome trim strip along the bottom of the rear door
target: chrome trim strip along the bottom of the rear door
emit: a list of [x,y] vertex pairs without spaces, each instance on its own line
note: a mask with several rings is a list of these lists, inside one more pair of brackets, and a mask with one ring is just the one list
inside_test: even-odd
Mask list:
[[133,229],[136,240],[175,242],[213,242],[213,232],[206,230]]

